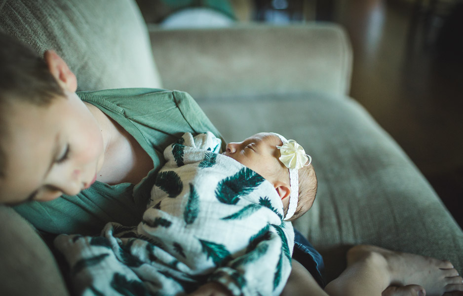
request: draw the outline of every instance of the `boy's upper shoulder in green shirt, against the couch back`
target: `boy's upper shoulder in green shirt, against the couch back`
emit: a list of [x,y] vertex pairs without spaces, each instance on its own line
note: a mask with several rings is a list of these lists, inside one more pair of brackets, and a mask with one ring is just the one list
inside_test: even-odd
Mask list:
[[[159,88],[119,88],[76,93],[118,121],[125,117],[140,130],[149,130],[154,143],[162,142],[162,150],[183,133],[212,132],[221,135],[192,96],[178,90]],[[120,123],[120,122],[119,122]],[[125,127],[124,127],[125,128]],[[161,140],[161,141],[159,141]],[[168,141],[164,141],[168,140]]]

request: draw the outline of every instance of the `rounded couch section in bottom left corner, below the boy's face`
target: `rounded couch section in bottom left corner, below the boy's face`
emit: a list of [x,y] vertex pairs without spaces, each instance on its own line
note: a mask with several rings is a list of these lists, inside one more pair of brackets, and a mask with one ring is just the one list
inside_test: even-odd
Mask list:
[[0,205],[0,294],[69,295],[58,265],[33,227]]

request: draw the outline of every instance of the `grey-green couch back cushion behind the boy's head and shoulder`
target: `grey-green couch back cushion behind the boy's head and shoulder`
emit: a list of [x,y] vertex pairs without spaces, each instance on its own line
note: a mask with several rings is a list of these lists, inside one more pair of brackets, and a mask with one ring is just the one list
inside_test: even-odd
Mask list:
[[54,49],[76,74],[77,90],[161,87],[133,0],[6,0],[0,30],[39,54]]

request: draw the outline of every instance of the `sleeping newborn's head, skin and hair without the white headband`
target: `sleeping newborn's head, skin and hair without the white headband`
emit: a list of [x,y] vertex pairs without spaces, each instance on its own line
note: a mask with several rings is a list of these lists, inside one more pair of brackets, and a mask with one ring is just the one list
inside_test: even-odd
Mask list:
[[[242,142],[229,143],[223,154],[232,157],[269,181],[281,197],[286,217],[291,197],[291,179],[290,169],[279,159],[283,151],[280,149],[284,144],[283,141],[287,142],[278,134],[259,133]],[[299,198],[296,211],[288,219],[289,221],[296,220],[310,209],[317,191],[317,178],[309,160],[303,163],[301,168],[293,171],[292,177],[295,182],[296,177],[293,174],[297,174],[299,179]]]

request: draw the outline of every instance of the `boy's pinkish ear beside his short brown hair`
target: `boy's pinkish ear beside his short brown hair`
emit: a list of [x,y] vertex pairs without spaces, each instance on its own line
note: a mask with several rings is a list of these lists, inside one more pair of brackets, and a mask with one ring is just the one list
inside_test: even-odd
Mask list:
[[48,65],[48,70],[58,81],[61,88],[76,92],[77,78],[69,69],[68,64],[54,50],[45,51],[43,58]]

